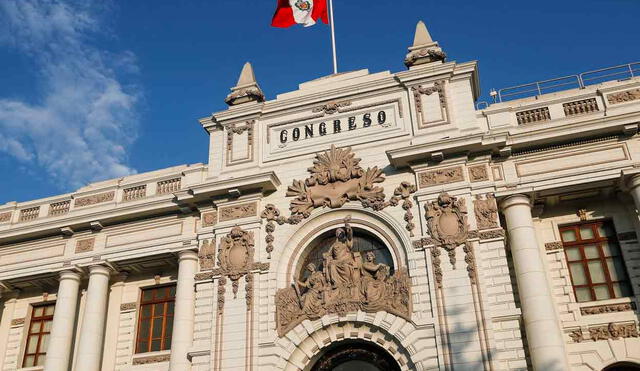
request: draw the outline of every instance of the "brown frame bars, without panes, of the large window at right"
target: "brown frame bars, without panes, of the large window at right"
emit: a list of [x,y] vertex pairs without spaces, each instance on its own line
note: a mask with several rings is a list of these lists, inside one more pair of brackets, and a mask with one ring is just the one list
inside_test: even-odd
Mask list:
[[[580,230],[584,229],[585,227],[590,227],[591,231],[593,233],[593,238],[591,239],[582,239],[582,235]],[[611,236],[607,237],[607,236],[600,236],[600,232],[599,232],[599,228],[609,228],[612,233]],[[575,234],[575,241],[568,241],[565,242],[562,234],[564,231],[568,231],[568,230],[573,230],[574,234]],[[631,287],[631,280],[629,277],[629,272],[627,270],[626,264],[624,263],[624,258],[622,256],[622,246],[620,245],[619,241],[618,241],[618,236],[616,233],[616,229],[615,229],[615,225],[613,223],[613,220],[611,219],[599,219],[599,220],[589,220],[589,221],[581,221],[581,222],[577,222],[577,223],[571,223],[571,224],[564,224],[564,225],[559,225],[558,226],[558,231],[560,234],[560,241],[562,242],[562,250],[564,251],[564,257],[565,257],[565,261],[567,262],[567,268],[569,270],[569,277],[571,279],[571,287],[573,289],[573,294],[575,296],[575,300],[577,303],[587,303],[587,302],[593,302],[593,301],[601,301],[601,300],[610,300],[610,299],[619,299],[619,298],[624,298],[624,297],[630,297],[633,296],[633,288]],[[611,243],[611,244],[615,244],[618,248],[618,254],[617,255],[605,255],[605,252],[603,250],[603,243]],[[597,251],[598,251],[598,257],[597,258],[587,258],[584,248],[587,246],[596,246]],[[570,260],[569,259],[569,255],[567,254],[567,249],[569,248],[577,248],[578,252],[580,254],[580,260]],[[617,281],[614,281],[612,279],[611,276],[611,272],[609,271],[609,265],[607,264],[607,260],[611,259],[612,261],[615,261],[616,259],[619,260],[619,262],[622,264],[622,267],[624,269],[624,279],[618,279]],[[593,283],[592,277],[591,277],[591,271],[589,270],[589,262],[594,262],[594,261],[598,261],[600,262],[600,266],[602,268],[602,272],[604,274],[604,282],[598,282],[598,283]],[[582,269],[584,271],[584,275],[585,275],[585,280],[586,280],[586,284],[582,284],[582,285],[576,285],[574,283],[574,277],[573,277],[573,273],[571,271],[571,264],[572,263],[581,263]],[[614,290],[614,285],[618,284],[620,286],[622,285],[626,285],[627,289],[630,291],[629,295],[621,295],[620,296],[616,296],[615,290]],[[608,298],[605,299],[597,299],[597,295],[596,295],[596,287],[600,287],[600,286],[606,286],[607,287],[607,292],[609,294]],[[589,289],[589,294],[590,294],[590,298],[589,300],[584,300],[584,301],[580,301],[578,299],[578,293],[577,293],[577,289],[580,288],[588,288]]]

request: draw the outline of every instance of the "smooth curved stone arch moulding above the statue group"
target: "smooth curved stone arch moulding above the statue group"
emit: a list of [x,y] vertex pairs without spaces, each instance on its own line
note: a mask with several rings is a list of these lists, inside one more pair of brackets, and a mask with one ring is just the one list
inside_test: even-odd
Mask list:
[[326,209],[298,225],[297,230],[285,243],[278,258],[276,283],[278,288],[292,282],[295,266],[308,243],[327,230],[337,228],[342,220],[351,215],[351,225],[364,229],[383,241],[389,248],[396,267],[407,266],[411,240],[405,229],[385,211],[373,211],[345,205],[340,209]]

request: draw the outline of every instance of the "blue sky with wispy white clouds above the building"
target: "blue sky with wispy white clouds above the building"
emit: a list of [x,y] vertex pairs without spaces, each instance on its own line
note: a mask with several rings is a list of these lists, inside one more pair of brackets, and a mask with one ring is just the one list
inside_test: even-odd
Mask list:
[[[640,61],[640,0],[334,0],[339,69],[404,70],[424,20],[481,90]],[[329,28],[276,0],[0,1],[0,204],[206,162],[197,119],[242,64],[268,99],[331,73]]]

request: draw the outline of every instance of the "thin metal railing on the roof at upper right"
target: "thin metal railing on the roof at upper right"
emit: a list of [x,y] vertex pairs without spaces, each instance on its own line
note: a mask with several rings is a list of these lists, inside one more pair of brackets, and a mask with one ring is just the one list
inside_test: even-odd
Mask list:
[[497,102],[504,102],[505,100],[533,97],[560,90],[573,88],[582,89],[588,85],[599,84],[605,81],[627,80],[635,76],[640,76],[640,62],[621,64],[619,66],[582,72],[577,75],[568,75],[529,84],[510,86],[499,89],[497,92],[492,91],[491,95],[494,97],[494,100],[497,98]]

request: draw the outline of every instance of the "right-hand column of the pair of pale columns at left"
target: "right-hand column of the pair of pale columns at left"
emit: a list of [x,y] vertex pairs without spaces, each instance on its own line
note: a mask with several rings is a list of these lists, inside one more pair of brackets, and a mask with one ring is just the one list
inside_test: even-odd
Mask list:
[[100,371],[104,326],[107,321],[109,274],[109,268],[102,265],[89,268],[89,285],[75,367],[77,370]]

